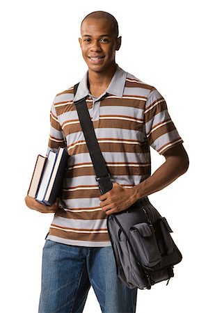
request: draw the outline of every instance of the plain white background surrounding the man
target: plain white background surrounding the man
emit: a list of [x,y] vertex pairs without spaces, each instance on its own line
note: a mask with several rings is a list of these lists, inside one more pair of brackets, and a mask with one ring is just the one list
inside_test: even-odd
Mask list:
[[[207,312],[207,13],[205,1],[7,0],[1,29],[2,313],[38,312],[42,246],[51,215],[24,204],[38,154],[45,154],[56,93],[86,72],[79,25],[94,10],[115,15],[117,63],[166,98],[190,168],[150,200],[175,231],[183,261],[175,278],[138,291],[140,313]],[[163,157],[152,152],[152,170]],[[100,312],[90,291],[85,313]]]

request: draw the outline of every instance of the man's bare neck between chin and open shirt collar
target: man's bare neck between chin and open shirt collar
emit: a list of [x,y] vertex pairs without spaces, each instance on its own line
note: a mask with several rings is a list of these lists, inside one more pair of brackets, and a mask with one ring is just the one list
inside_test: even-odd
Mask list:
[[111,83],[116,67],[117,65],[115,64],[105,72],[94,72],[88,70],[88,87],[92,95],[98,97],[104,93]]

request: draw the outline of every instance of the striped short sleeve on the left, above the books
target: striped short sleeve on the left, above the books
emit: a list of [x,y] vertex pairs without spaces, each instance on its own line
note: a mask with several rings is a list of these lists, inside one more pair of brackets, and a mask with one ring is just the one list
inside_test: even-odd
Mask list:
[[63,129],[61,128],[61,125],[58,121],[56,108],[53,103],[50,111],[50,134],[47,154],[49,150],[56,152],[58,147],[65,147],[65,145],[65,136],[63,134]]

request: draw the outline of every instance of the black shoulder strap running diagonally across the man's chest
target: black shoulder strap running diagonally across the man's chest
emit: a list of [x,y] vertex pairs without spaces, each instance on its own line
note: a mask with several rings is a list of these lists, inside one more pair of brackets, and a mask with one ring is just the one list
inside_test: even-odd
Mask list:
[[[74,95],[77,93],[78,86],[79,83],[74,86]],[[74,102],[74,104],[77,109],[77,114],[79,116],[84,138],[86,139],[88,151],[93,162],[96,180],[99,184],[99,190],[102,194],[106,193],[107,191],[111,190],[113,184],[106,168],[106,163],[100,150],[99,143],[97,142],[93,122],[90,118],[88,106],[86,104],[86,98],[80,99],[79,101]]]

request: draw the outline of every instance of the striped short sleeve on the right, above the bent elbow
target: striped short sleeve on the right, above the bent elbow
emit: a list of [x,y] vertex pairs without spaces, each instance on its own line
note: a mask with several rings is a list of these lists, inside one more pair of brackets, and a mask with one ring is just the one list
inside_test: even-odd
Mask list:
[[152,90],[147,98],[144,125],[147,143],[159,154],[163,154],[174,145],[183,143],[170,118],[166,101],[156,89]]

